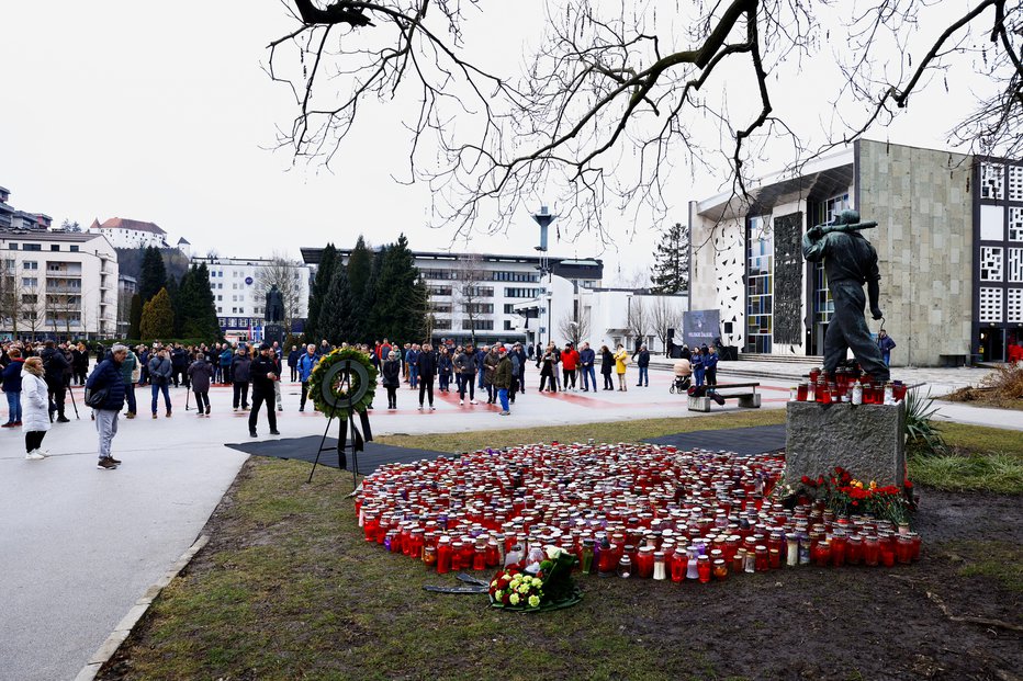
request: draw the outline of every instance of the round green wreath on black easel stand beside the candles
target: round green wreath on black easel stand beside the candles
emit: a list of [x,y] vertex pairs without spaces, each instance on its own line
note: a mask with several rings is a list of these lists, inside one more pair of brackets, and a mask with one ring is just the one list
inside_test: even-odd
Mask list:
[[[355,381],[352,381],[355,378]],[[313,481],[313,474],[316,473],[316,466],[319,464],[319,456],[334,447],[324,446],[327,442],[327,435],[330,433],[330,427],[335,419],[338,419],[338,438],[337,438],[337,459],[338,468],[348,467],[348,457],[346,451],[351,451],[352,469],[351,484],[356,487],[359,475],[359,452],[362,452],[367,441],[373,439],[370,430],[369,416],[366,409],[358,409],[362,398],[366,397],[370,386],[375,382],[375,377],[370,375],[366,366],[359,361],[342,359],[330,364],[322,381],[317,382],[319,387],[319,398],[324,406],[330,410],[327,417],[327,428],[324,429],[323,438],[319,441],[319,450],[316,452],[316,458],[313,461],[313,469],[310,470],[310,478],[306,484]],[[316,400],[318,401],[318,400]],[[359,431],[356,424],[355,415],[358,411],[362,431]],[[326,410],[324,410],[326,413]],[[364,433],[364,435],[363,435]]]

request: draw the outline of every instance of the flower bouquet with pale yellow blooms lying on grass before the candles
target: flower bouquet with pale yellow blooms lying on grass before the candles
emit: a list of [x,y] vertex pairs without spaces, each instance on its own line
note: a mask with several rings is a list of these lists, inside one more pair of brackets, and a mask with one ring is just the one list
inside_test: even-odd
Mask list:
[[547,559],[525,567],[521,563],[505,566],[491,580],[491,606],[521,612],[559,610],[582,600],[572,568],[574,555],[558,546],[546,548]]

